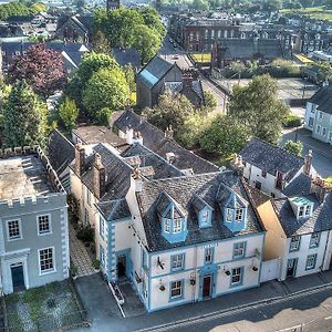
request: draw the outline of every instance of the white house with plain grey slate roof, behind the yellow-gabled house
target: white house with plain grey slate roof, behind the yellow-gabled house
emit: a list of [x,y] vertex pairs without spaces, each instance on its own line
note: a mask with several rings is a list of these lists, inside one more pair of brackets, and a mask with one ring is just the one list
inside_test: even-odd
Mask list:
[[300,174],[317,174],[311,153],[302,158],[257,137],[246,144],[235,163],[243,165],[243,177],[250,186],[272,197],[283,196],[282,190]]

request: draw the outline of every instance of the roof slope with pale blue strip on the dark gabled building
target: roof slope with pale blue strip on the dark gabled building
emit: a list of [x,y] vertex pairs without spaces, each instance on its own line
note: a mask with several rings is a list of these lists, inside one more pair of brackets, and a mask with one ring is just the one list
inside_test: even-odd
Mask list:
[[159,55],[155,55],[137,74],[139,79],[146,86],[153,87],[157,82],[159,82],[165,74],[173,68],[174,64],[164,60]]

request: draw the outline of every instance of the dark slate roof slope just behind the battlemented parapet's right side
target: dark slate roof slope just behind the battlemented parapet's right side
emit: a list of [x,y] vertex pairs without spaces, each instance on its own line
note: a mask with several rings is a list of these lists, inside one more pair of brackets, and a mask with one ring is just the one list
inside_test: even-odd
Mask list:
[[74,160],[75,147],[58,129],[54,129],[49,136],[48,157],[55,173],[60,175]]

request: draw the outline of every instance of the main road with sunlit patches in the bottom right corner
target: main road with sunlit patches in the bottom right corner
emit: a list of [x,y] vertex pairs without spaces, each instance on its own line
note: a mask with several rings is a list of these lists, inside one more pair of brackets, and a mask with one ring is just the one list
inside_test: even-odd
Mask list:
[[293,299],[256,305],[225,314],[174,322],[151,331],[174,332],[329,332],[332,331],[332,289],[302,293]]

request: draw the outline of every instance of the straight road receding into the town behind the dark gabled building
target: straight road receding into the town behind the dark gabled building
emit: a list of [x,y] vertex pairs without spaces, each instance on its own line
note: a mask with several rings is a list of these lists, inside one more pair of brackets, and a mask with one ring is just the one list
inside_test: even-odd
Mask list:
[[[176,48],[173,45],[173,43],[169,41],[169,37],[166,35],[164,39],[164,43],[158,51],[158,54],[163,56],[165,60],[169,62],[177,62],[177,64],[183,69],[194,68],[194,63],[189,60],[187,56],[187,53],[184,49],[181,49],[179,45]],[[177,59],[174,59],[174,55],[177,54]],[[201,81],[201,85],[204,90],[210,91],[217,101],[217,107],[216,111],[220,113],[226,112],[226,104],[225,98],[226,95],[224,92],[220,91],[215,84],[212,84],[208,79],[206,79],[204,75],[199,75],[199,79]]]

